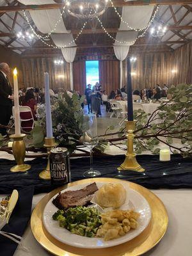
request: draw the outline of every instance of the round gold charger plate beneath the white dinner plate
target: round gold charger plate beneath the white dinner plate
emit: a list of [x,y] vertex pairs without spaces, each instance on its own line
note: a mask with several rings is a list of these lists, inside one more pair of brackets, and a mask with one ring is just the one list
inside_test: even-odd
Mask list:
[[159,243],[168,227],[168,214],[163,202],[161,202],[161,200],[150,190],[143,188],[136,183],[128,182],[125,180],[120,180],[120,182],[125,183],[125,186],[127,183],[129,183],[130,188],[138,191],[141,195],[143,195],[148,201],[152,211],[152,218],[148,224],[148,227],[145,228],[145,230],[139,236],[135,237],[131,241],[128,241],[127,243],[102,249],[76,248],[67,244],[63,244],[52,237],[51,234],[49,234],[45,229],[42,221],[44,208],[47,202],[49,202],[52,196],[56,195],[60,190],[70,186],[86,184],[93,181],[117,182],[118,179],[93,178],[78,180],[76,182],[67,184],[66,186],[54,189],[49,194],[44,196],[44,198],[42,198],[42,200],[40,200],[40,202],[36,205],[31,215],[31,230],[33,232],[33,236],[35,236],[35,239],[45,248],[45,250],[57,256],[136,256],[147,252],[157,243]]

